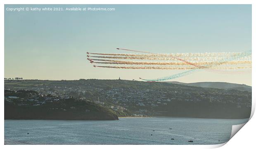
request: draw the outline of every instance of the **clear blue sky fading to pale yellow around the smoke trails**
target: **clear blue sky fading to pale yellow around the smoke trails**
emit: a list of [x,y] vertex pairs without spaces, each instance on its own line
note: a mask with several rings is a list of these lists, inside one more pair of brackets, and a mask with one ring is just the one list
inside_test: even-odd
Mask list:
[[[115,11],[10,12],[16,7],[103,7]],[[86,52],[244,52],[251,5],[5,5],[5,78],[146,79],[185,70],[94,68]],[[251,85],[251,73],[199,71],[170,81]]]

